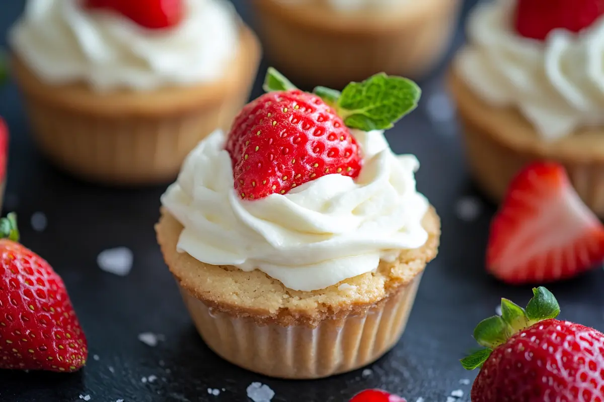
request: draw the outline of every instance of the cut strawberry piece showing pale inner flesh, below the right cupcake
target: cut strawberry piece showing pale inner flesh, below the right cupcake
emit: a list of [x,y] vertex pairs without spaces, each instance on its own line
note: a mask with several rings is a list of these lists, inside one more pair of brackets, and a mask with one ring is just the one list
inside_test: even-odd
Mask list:
[[604,259],[604,226],[564,167],[535,162],[512,180],[490,227],[487,270],[511,284],[570,278]]

